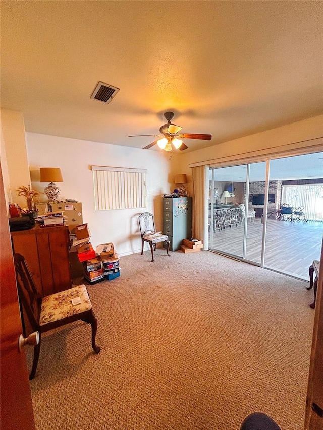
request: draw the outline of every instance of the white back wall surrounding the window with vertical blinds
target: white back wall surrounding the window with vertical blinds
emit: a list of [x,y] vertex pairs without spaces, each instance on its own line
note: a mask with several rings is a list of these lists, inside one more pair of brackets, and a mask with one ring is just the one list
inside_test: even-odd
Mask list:
[[[181,173],[177,170],[180,155],[172,154],[169,160],[166,152],[36,133],[26,133],[26,140],[33,188],[43,191],[47,185],[39,182],[40,167],[59,167],[64,180],[57,184],[60,199],[82,202],[83,222],[89,225],[94,248],[113,242],[119,255],[141,251],[138,216],[145,211],[154,213],[156,229],[162,229],[162,198],[174,188],[175,174]],[[95,211],[91,165],[147,169],[147,207]]]

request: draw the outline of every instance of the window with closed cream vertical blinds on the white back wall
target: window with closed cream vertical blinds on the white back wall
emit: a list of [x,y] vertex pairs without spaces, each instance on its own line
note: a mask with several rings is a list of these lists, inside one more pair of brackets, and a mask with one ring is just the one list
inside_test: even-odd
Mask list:
[[95,210],[146,207],[146,169],[91,166]]

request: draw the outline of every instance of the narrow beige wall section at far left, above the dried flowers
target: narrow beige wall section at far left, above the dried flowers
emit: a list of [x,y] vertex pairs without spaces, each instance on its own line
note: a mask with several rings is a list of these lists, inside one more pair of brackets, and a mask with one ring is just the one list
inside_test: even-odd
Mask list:
[[[7,190],[5,184],[5,191],[8,199],[25,208],[25,198],[18,196],[16,191],[21,186],[28,187],[30,185],[25,124],[22,112],[1,109],[1,124],[3,135],[1,155],[6,159],[8,166]],[[5,160],[3,161],[5,162]]]

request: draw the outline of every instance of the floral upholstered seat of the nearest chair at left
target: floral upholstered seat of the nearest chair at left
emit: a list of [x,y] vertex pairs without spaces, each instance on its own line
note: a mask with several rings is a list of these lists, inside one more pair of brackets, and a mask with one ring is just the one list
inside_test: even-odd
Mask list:
[[[77,300],[78,298],[81,302],[73,304],[72,300]],[[92,309],[92,306],[86,286],[78,285],[42,299],[39,325],[43,326],[90,309]]]

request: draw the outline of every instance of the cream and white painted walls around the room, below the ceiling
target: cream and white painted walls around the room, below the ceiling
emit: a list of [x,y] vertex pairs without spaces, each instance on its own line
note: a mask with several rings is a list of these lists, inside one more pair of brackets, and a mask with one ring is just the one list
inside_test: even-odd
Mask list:
[[[64,178],[64,182],[59,184],[60,197],[62,200],[70,198],[82,202],[83,220],[89,224],[93,246],[113,241],[119,254],[125,255],[140,250],[139,213],[144,210],[153,212],[156,228],[162,229],[162,196],[175,188],[174,178],[177,173],[188,175],[187,190],[191,195],[192,175],[189,165],[208,164],[207,160],[211,160],[212,163],[225,160],[233,162],[248,156],[264,156],[263,154],[280,152],[282,154],[284,152],[285,155],[286,151],[295,148],[302,150],[307,147],[310,152],[314,144],[320,145],[322,150],[322,139],[299,143],[296,146],[291,145],[293,142],[321,137],[322,124],[323,115],[320,115],[187,154],[185,152],[169,154],[36,133],[25,134],[22,114],[5,111],[5,120],[2,119],[4,136],[1,157],[4,158],[5,154],[9,161],[8,178],[11,190],[15,190],[20,185],[27,185],[30,168],[33,187],[42,191],[46,184],[39,182],[39,168],[60,167]],[[26,136],[27,151],[23,145],[24,136]],[[4,160],[2,165],[3,162]],[[148,169],[147,208],[95,211],[90,165]],[[17,203],[14,196],[12,199]]]

